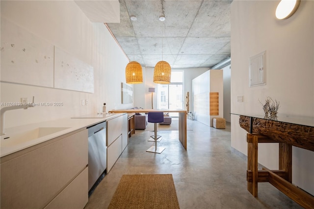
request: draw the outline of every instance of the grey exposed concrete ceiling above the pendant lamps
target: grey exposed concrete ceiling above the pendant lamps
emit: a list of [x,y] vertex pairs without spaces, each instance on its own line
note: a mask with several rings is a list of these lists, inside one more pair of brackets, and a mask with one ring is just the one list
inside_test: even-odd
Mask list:
[[230,57],[232,0],[119,2],[120,23],[106,25],[131,61],[145,67],[164,60],[172,68],[211,68]]

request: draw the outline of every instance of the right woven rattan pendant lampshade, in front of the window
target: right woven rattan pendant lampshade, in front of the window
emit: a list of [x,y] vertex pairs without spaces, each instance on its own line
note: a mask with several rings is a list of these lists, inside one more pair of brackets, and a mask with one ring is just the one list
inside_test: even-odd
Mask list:
[[157,62],[154,69],[154,83],[168,84],[171,80],[171,67],[166,61]]

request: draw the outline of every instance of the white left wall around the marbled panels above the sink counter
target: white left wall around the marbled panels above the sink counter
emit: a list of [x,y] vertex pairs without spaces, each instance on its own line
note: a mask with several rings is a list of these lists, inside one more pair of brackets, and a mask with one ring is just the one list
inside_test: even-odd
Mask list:
[[[7,111],[6,127],[69,118],[107,110],[128,108],[121,104],[121,82],[129,60],[118,47],[104,24],[91,23],[74,1],[1,1],[1,18],[5,18],[37,37],[72,54],[94,67],[94,93],[0,83],[1,102],[62,102],[63,106],[36,106],[27,110]],[[1,30],[1,33],[5,31]],[[1,71],[6,70],[2,69]],[[81,100],[88,100],[87,106]]]

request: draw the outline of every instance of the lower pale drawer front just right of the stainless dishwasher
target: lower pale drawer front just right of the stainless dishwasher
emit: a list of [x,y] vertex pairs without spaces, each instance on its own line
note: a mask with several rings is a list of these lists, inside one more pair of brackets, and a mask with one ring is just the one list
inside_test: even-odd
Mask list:
[[122,135],[107,148],[107,173],[122,153]]

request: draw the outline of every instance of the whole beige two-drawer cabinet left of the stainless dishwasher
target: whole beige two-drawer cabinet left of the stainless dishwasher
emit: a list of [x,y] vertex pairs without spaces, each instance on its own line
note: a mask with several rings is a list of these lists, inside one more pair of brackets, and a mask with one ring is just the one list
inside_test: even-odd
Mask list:
[[84,208],[88,202],[86,129],[1,157],[0,163],[1,209]]

